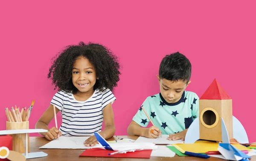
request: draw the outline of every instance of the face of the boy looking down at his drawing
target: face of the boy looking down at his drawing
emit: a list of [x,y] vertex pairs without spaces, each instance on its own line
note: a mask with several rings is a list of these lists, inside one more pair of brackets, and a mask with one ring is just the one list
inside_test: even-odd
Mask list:
[[191,81],[188,83],[178,80],[172,81],[167,79],[160,79],[159,75],[157,75],[159,84],[160,84],[160,92],[163,98],[168,103],[175,103],[180,100],[183,91],[189,85]]

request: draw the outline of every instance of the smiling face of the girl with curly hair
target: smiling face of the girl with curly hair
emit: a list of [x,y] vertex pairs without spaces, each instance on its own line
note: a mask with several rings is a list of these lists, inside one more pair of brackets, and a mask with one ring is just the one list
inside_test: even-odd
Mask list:
[[78,92],[92,92],[96,83],[96,71],[87,58],[78,57],[73,64],[72,82]]

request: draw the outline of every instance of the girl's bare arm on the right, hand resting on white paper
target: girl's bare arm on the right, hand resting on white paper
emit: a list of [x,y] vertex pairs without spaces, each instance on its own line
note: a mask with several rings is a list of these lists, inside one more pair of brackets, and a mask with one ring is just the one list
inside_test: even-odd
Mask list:
[[[102,135],[103,138],[108,139],[111,138],[116,132],[112,103],[108,103],[108,105],[103,109],[103,119],[105,128],[99,132],[99,134]],[[84,145],[87,147],[94,146],[95,144],[97,144],[95,135],[84,141]]]

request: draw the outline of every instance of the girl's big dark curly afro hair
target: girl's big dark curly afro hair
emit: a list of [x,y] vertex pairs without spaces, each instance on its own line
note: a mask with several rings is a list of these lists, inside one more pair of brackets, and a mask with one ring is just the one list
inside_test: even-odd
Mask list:
[[72,83],[72,69],[76,58],[87,58],[96,70],[96,80],[93,89],[104,91],[108,88],[114,90],[119,81],[120,65],[117,57],[105,46],[97,43],[80,42],[79,45],[70,45],[52,58],[48,78],[58,90],[76,93],[77,89]]

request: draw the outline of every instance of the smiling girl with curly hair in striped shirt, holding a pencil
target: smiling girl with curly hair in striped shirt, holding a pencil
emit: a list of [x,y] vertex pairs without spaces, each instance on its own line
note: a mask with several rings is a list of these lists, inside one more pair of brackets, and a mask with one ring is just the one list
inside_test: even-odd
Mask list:
[[[97,143],[94,132],[105,139],[111,138],[115,133],[112,103],[116,100],[111,91],[117,86],[120,75],[117,57],[105,46],[80,42],[67,46],[53,60],[48,78],[58,92],[35,128],[47,129],[48,132],[40,134],[48,140],[61,135],[91,135],[84,142],[87,147]],[[62,115],[60,129],[48,128],[54,118],[53,105],[56,113],[60,111]]]

